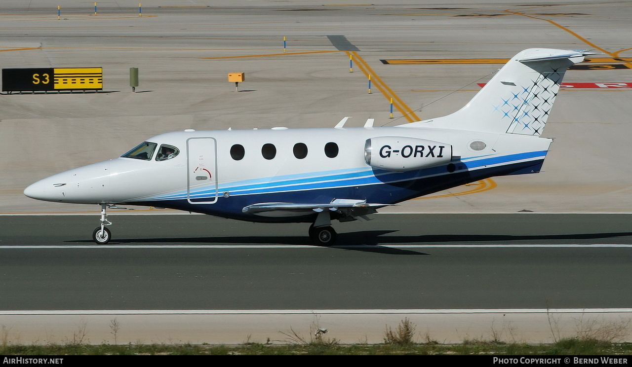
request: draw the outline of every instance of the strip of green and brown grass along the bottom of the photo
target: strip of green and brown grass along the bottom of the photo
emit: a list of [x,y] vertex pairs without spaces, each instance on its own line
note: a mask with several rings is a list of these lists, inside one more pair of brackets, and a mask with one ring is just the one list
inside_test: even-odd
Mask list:
[[311,342],[308,344],[245,343],[238,346],[194,344],[64,344],[46,346],[6,345],[0,354],[7,355],[629,355],[632,343],[611,343],[600,340],[562,339],[554,344],[520,344],[464,340],[461,344],[351,344]]

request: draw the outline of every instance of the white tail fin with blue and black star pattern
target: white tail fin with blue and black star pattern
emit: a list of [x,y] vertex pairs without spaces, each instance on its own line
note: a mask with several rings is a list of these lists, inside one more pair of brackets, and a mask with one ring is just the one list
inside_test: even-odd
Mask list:
[[569,66],[592,54],[526,49],[511,58],[468,104],[434,119],[442,128],[542,135],[559,85]]

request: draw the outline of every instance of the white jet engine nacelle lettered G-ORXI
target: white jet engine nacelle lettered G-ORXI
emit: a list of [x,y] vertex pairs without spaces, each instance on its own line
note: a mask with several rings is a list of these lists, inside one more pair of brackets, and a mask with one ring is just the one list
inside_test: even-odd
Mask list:
[[413,171],[449,163],[452,160],[452,145],[402,136],[379,136],[367,139],[364,157],[371,167],[387,171]]

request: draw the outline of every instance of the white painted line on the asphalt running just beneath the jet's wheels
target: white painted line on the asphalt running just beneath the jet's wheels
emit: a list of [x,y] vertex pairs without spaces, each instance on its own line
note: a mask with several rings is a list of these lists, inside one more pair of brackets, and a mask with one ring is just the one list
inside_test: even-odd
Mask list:
[[121,250],[125,248],[161,248],[161,249],[183,249],[183,248],[302,248],[302,249],[327,249],[327,248],[632,248],[632,244],[358,244],[353,246],[315,246],[310,244],[64,244],[64,245],[23,245],[15,246],[3,245],[0,250],[61,250],[61,249],[92,249],[92,250]]

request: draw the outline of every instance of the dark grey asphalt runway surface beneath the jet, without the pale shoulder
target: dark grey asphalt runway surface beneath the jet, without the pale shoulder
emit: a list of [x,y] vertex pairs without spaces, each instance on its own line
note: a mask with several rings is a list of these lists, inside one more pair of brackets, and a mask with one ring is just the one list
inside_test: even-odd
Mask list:
[[336,226],[333,248],[310,245],[305,225],[205,215],[112,215],[114,240],[96,246],[95,217],[0,217],[1,309],[632,304],[632,215],[375,215]]

